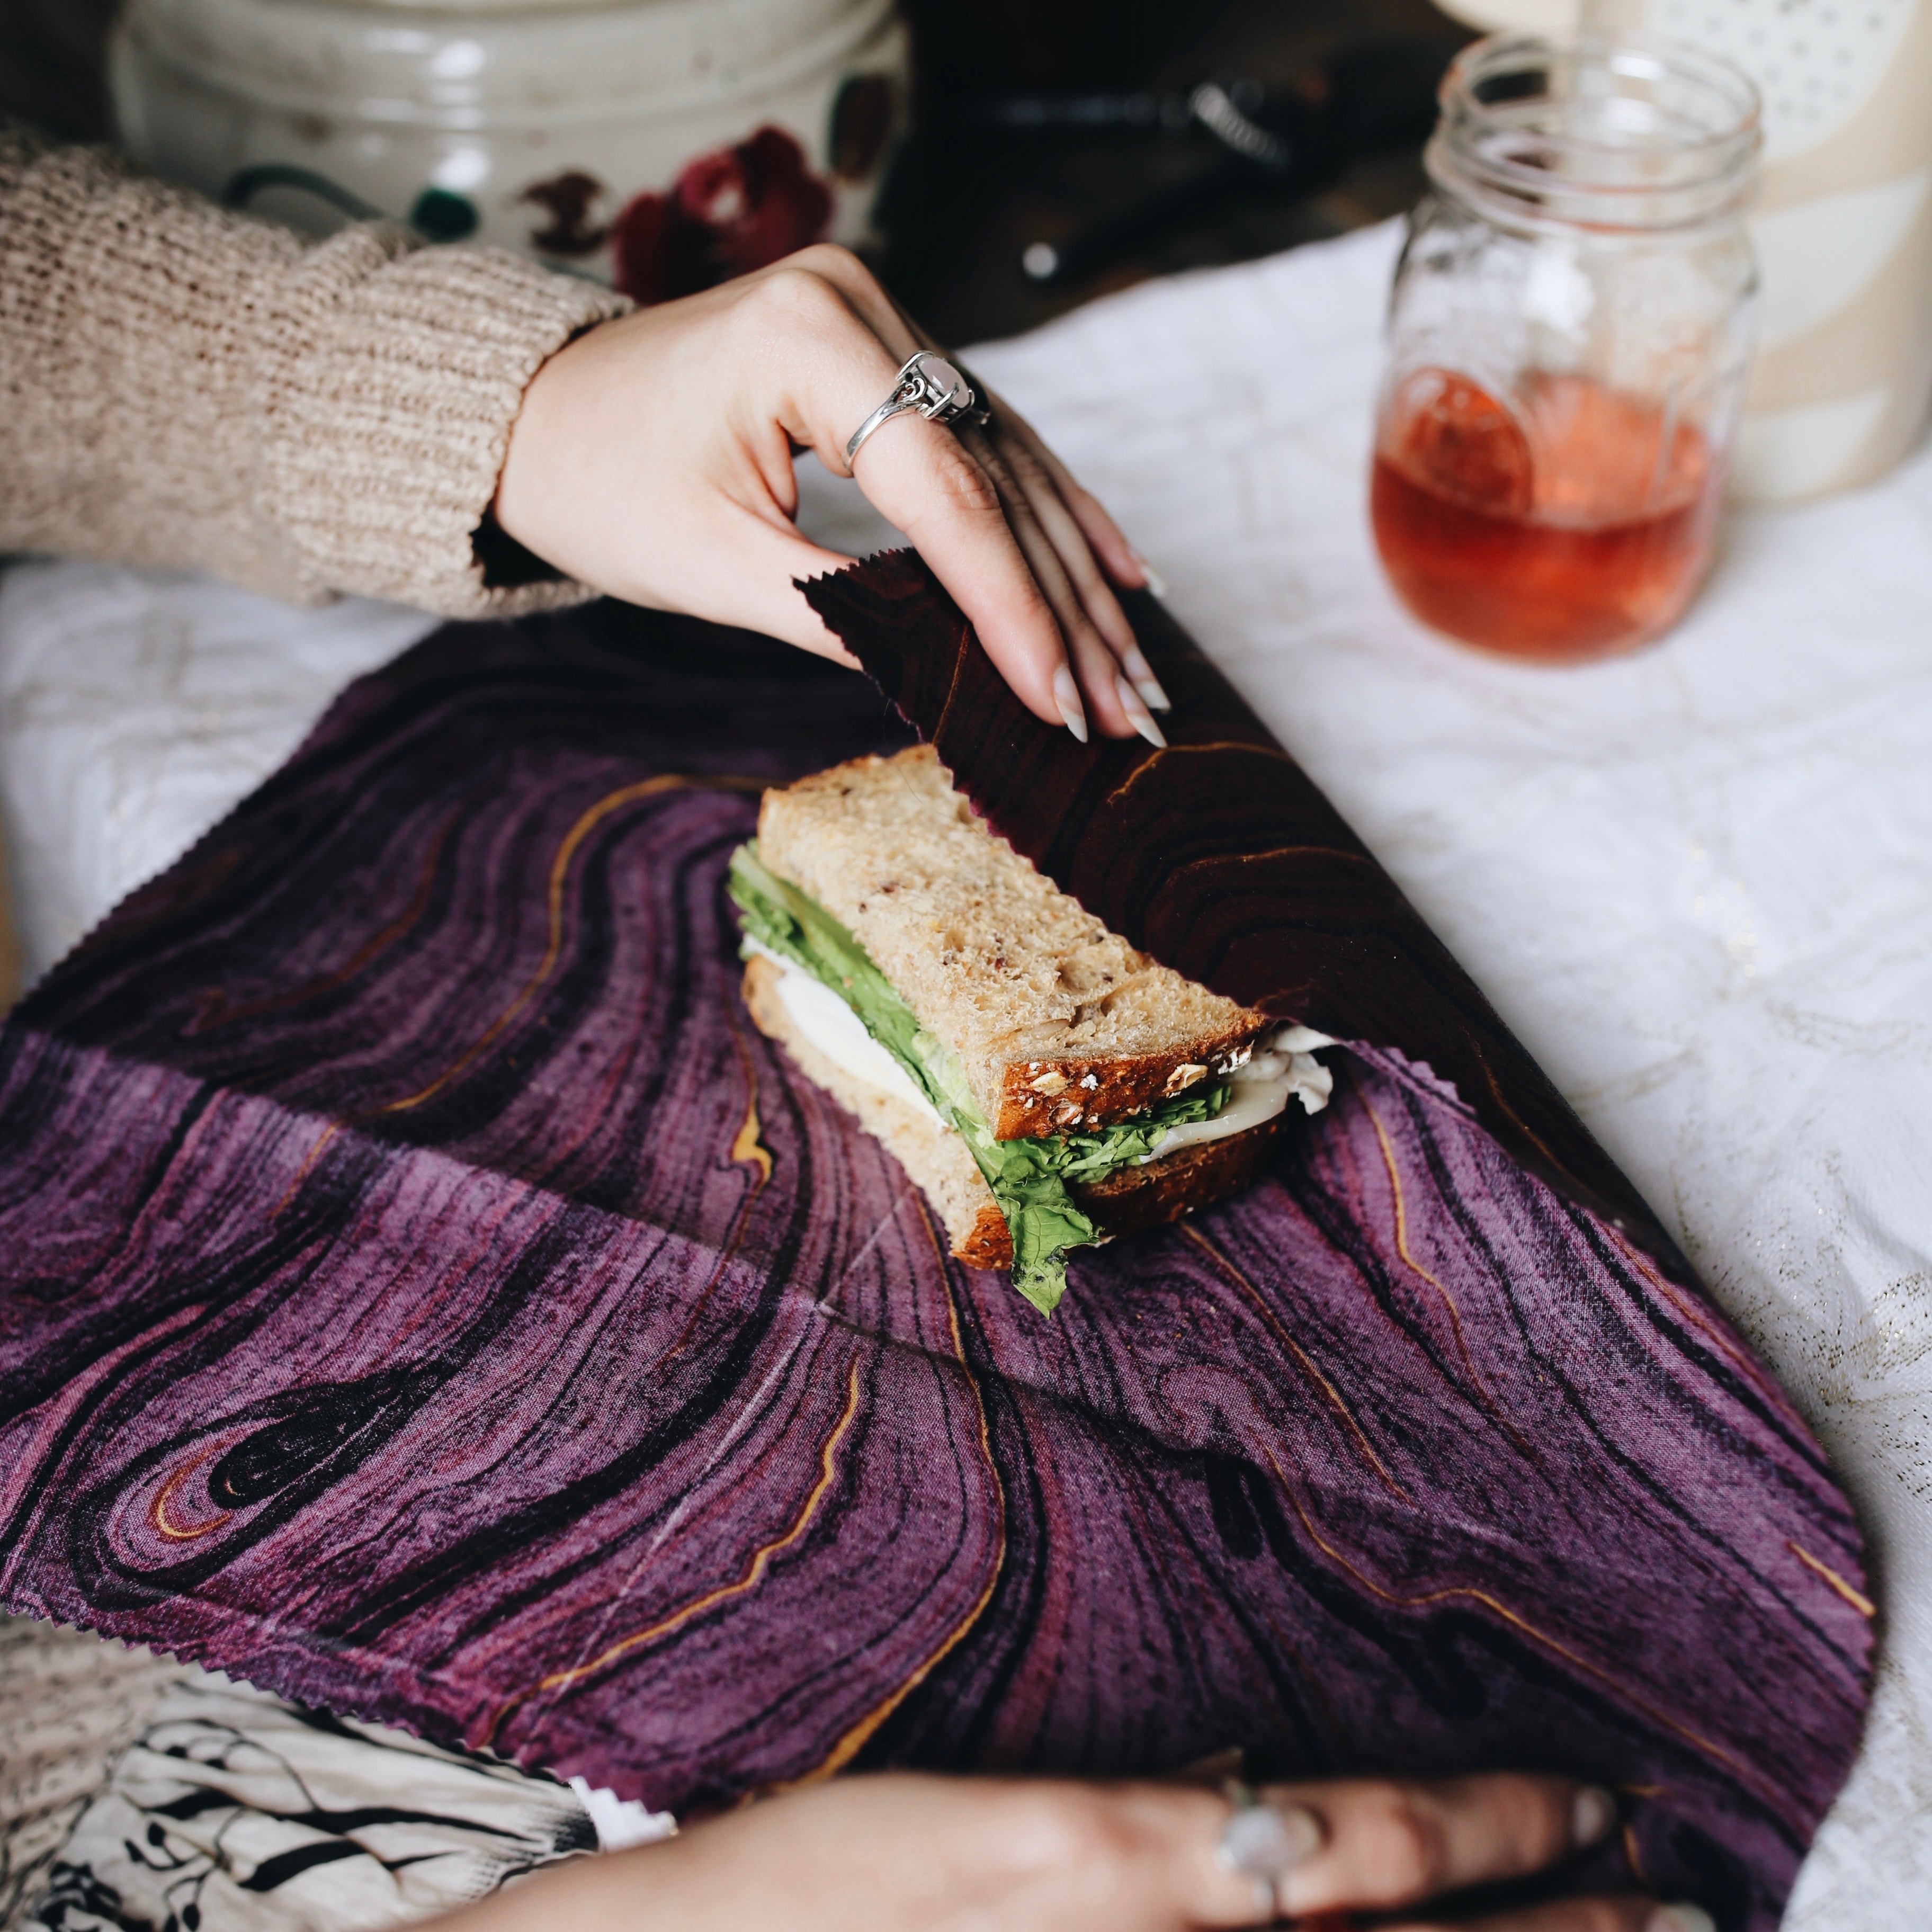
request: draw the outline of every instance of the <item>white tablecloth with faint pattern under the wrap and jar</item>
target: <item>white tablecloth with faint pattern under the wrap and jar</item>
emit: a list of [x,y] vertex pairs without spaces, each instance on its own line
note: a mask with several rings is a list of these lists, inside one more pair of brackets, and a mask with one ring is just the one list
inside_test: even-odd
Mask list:
[[[1874,1546],[1878,1692],[1797,1932],[1932,1924],[1932,454],[1735,518],[1683,628],[1586,670],[1395,607],[1364,495],[1395,236],[974,354],[1777,1366]],[[871,547],[823,473],[808,520]],[[875,541],[875,539],[873,539]],[[0,585],[0,790],[44,968],[425,628],[205,582]]]

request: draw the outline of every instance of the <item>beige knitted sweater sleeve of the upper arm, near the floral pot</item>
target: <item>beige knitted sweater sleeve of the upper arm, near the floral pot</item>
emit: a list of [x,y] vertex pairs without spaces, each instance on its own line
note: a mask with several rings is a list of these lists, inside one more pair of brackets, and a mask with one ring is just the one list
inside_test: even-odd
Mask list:
[[624,307],[390,224],[305,243],[0,126],[0,549],[299,603],[570,603],[531,568],[493,580],[516,547],[477,537],[531,375]]

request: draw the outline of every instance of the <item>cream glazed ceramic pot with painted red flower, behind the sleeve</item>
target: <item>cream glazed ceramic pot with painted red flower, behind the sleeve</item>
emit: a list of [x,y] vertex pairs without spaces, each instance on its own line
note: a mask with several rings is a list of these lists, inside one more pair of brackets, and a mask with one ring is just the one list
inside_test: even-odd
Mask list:
[[906,81],[893,0],[131,0],[110,48],[122,141],[158,174],[641,301],[867,240]]

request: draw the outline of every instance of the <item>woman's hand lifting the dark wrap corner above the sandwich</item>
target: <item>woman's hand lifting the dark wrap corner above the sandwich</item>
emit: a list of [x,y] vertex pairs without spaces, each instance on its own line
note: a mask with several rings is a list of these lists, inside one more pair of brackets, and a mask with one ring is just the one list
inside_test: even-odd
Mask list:
[[1109,583],[1140,587],[1140,560],[1007,404],[981,398],[985,429],[895,417],[848,469],[846,440],[920,348],[829,245],[605,323],[531,379],[497,522],[612,597],[852,663],[792,583],[852,560],[792,524],[792,454],[813,450],[918,545],[1028,709],[1159,742],[1148,705],[1167,699]]

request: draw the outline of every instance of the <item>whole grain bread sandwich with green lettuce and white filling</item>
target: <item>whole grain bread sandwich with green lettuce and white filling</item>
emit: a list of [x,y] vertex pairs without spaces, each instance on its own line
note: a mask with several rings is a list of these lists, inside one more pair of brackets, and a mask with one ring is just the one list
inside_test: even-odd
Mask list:
[[759,1032],[1043,1314],[1068,1252],[1233,1194],[1327,1103],[1335,1041],[1138,952],[929,746],[765,792],[730,895]]

